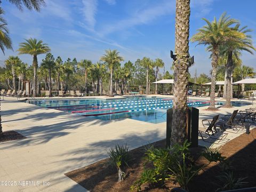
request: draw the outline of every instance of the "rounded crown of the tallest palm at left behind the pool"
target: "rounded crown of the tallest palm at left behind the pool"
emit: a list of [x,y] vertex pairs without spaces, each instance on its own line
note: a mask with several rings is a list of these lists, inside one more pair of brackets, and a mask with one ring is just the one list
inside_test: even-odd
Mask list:
[[37,41],[35,38],[29,38],[25,39],[25,41],[19,45],[20,48],[17,50],[19,54],[38,55],[51,51],[50,47],[46,43],[43,43],[42,40]]

